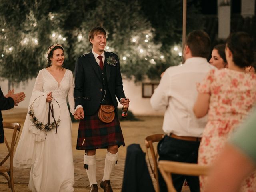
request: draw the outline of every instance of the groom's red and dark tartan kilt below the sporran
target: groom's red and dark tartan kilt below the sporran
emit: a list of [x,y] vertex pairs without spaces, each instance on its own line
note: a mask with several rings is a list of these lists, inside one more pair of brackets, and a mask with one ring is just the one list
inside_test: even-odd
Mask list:
[[84,116],[84,119],[80,120],[76,149],[106,149],[111,145],[125,146],[116,111],[111,123],[102,122],[98,117],[98,110],[95,114]]

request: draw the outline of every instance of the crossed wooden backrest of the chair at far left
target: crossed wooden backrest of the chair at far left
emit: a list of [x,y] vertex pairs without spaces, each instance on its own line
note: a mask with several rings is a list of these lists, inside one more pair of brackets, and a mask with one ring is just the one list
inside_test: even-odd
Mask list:
[[[20,124],[18,123],[7,123],[3,122],[4,129],[12,129],[12,140],[10,142],[10,146],[8,144],[8,141],[6,140],[6,137],[4,136],[4,143],[6,144],[6,147],[8,149],[8,154],[4,157],[4,159],[0,162],[0,166],[3,165],[8,158],[10,158],[10,168],[12,168],[13,164],[13,152],[14,152],[14,146],[17,142],[19,133],[20,133]],[[17,134],[18,132],[18,134]]]

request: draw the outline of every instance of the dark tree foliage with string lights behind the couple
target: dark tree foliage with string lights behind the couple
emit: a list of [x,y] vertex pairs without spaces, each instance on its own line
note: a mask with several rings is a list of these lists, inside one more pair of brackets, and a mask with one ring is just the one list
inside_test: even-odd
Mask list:
[[[74,70],[76,58],[91,50],[89,30],[102,26],[107,32],[106,50],[118,54],[127,78],[158,79],[168,66],[181,62],[172,46],[180,44],[182,4],[140,2],[0,0],[0,76],[14,83],[36,76],[46,67],[48,46],[56,43],[64,46],[64,66]],[[168,6],[161,6],[163,2]],[[162,12],[166,8],[171,10]]]

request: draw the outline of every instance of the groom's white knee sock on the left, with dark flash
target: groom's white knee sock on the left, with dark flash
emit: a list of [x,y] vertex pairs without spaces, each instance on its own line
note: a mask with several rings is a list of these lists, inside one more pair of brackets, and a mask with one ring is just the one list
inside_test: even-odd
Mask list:
[[97,184],[96,180],[96,155],[84,155],[84,164],[88,165],[86,173],[90,182],[92,184]]

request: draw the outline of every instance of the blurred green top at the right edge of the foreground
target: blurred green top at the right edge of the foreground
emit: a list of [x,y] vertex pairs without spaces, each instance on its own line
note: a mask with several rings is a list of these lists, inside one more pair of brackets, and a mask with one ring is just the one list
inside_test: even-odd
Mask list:
[[240,125],[229,142],[256,162],[256,110]]

